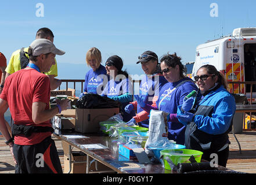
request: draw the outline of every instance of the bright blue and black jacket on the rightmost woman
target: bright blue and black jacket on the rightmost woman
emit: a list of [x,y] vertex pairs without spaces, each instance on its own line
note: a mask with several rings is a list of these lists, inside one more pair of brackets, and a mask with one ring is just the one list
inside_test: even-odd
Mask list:
[[193,121],[186,126],[186,148],[211,152],[221,150],[229,143],[228,132],[235,110],[235,98],[223,86],[205,95],[197,105]]

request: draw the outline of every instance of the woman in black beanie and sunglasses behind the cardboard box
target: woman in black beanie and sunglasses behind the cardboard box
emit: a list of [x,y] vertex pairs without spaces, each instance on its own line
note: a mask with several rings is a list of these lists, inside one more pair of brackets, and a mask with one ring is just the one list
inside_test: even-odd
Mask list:
[[129,121],[132,116],[135,116],[135,111],[132,110],[128,114],[124,108],[132,101],[132,80],[129,79],[126,71],[122,71],[123,65],[122,59],[118,56],[111,56],[107,59],[105,67],[110,80],[104,87],[102,96],[121,102],[123,120]]

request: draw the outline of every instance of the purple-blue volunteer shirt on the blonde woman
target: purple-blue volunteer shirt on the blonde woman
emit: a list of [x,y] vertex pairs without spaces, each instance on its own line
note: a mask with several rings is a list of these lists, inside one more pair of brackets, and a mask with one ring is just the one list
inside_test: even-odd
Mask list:
[[106,68],[100,65],[96,71],[90,69],[85,75],[84,92],[91,92],[93,94],[101,94],[103,91],[103,75],[107,76]]

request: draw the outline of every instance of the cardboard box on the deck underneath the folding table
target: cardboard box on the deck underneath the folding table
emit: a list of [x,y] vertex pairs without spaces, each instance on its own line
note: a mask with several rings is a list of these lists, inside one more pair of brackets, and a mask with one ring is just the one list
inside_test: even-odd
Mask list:
[[[64,173],[67,173],[70,169],[69,167],[69,158],[68,158],[68,143],[62,141],[62,148],[64,153]],[[78,150],[78,149],[77,149]],[[86,154],[82,151],[73,151],[71,154],[72,161],[86,161]],[[96,164],[97,162],[97,164]],[[93,171],[110,171],[111,168],[100,163],[99,161],[94,160],[92,157],[89,157],[89,172]],[[72,163],[70,173],[86,173],[86,162],[81,163]]]

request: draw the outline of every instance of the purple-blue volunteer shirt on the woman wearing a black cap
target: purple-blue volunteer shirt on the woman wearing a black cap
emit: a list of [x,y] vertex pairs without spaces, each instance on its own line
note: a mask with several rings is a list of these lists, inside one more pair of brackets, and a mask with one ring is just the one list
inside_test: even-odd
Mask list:
[[[158,96],[161,88],[164,84],[167,83],[167,80],[163,75],[155,74],[155,75],[145,75],[139,87],[140,98],[144,99],[144,102],[152,105],[152,100],[154,96]],[[142,112],[143,109],[137,105],[137,113]],[[138,123],[141,127],[149,128],[149,119],[140,121]]]

